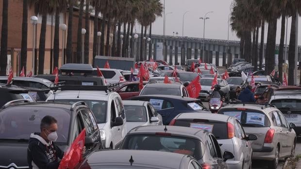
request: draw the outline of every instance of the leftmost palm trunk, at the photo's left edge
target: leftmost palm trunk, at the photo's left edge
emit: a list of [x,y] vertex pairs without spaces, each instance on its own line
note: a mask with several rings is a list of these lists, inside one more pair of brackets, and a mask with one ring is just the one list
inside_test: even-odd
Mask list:
[[7,34],[8,34],[8,0],[3,0],[2,6],[3,6],[3,8],[2,8],[2,28],[1,28],[1,50],[0,50],[0,76],[6,76]]

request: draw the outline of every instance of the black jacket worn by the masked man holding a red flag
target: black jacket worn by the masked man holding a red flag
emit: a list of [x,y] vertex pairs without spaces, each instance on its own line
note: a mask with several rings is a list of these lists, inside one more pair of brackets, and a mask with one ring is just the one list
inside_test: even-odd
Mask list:
[[64,152],[52,141],[46,142],[40,133],[31,134],[27,149],[29,169],[57,169]]

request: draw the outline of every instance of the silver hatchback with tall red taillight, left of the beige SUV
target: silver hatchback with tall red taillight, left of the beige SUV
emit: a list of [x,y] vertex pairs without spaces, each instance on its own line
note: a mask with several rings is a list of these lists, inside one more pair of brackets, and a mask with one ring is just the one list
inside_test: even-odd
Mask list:
[[171,124],[209,130],[217,138],[222,152],[234,154],[234,158],[226,161],[229,169],[251,169],[252,148],[249,140],[256,140],[257,137],[247,136],[236,118],[222,114],[181,113]]

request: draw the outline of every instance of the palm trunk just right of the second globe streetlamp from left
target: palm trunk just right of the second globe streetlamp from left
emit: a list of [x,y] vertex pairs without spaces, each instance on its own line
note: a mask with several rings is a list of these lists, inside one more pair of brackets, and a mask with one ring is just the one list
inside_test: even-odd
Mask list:
[[73,51],[72,51],[73,5],[74,5],[74,0],[69,0],[69,16],[68,16],[67,46],[66,46],[66,63],[71,63],[72,56],[73,56]]

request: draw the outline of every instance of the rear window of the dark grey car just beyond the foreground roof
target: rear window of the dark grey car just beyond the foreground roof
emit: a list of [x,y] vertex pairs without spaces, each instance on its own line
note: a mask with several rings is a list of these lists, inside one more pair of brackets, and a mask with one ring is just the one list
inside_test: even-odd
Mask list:
[[200,160],[205,152],[200,140],[164,135],[129,135],[125,138],[121,149],[152,150],[187,154]]

